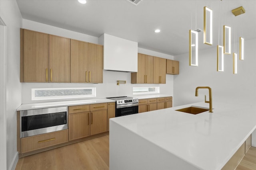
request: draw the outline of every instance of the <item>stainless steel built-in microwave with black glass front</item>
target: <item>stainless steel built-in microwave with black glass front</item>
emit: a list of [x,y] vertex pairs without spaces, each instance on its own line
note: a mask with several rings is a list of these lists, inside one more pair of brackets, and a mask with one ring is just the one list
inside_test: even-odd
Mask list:
[[68,107],[20,111],[20,138],[68,129]]

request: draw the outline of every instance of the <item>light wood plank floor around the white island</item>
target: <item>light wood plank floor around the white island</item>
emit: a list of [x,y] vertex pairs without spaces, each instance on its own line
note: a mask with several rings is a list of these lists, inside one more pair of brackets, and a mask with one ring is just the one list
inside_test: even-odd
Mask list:
[[[108,170],[109,135],[20,158],[15,170]],[[251,147],[236,170],[256,170]]]

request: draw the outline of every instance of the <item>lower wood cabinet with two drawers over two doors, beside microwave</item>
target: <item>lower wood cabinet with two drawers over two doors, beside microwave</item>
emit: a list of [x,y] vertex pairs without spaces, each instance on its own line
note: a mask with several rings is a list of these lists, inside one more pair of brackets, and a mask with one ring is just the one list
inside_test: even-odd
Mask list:
[[108,104],[70,106],[69,141],[108,131]]

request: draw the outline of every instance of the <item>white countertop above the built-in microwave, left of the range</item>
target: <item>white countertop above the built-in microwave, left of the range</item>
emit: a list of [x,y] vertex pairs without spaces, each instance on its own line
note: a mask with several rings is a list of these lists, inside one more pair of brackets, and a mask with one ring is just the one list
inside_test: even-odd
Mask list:
[[16,110],[31,110],[31,109],[42,109],[49,107],[62,107],[62,106],[76,106],[83,104],[97,104],[97,103],[108,103],[115,102],[111,99],[89,99],[89,100],[71,100],[71,101],[62,101],[62,102],[45,102],[45,103],[33,103],[33,104],[22,104]]

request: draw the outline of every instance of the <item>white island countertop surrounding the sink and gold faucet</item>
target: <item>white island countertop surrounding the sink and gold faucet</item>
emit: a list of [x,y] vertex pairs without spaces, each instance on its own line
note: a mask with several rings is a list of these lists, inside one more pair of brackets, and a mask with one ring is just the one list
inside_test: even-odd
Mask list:
[[175,111],[204,102],[110,119],[202,170],[220,170],[256,128],[254,104],[213,102],[213,113]]

